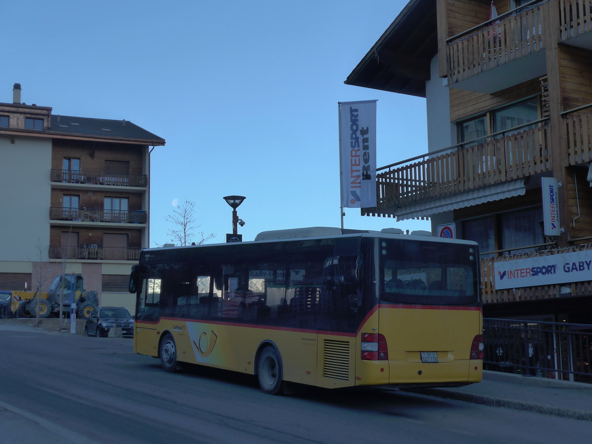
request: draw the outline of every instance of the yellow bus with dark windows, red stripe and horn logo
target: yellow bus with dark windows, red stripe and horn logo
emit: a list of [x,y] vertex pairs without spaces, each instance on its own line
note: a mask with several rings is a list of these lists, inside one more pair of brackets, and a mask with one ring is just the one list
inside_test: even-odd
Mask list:
[[478,246],[382,231],[274,230],[144,249],[134,351],[324,388],[481,381]]

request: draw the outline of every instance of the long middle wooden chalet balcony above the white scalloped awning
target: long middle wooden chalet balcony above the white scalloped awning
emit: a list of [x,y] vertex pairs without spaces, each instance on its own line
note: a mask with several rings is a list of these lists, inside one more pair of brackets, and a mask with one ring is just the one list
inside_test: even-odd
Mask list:
[[377,207],[362,214],[392,217],[406,205],[549,171],[548,131],[542,119],[378,168]]

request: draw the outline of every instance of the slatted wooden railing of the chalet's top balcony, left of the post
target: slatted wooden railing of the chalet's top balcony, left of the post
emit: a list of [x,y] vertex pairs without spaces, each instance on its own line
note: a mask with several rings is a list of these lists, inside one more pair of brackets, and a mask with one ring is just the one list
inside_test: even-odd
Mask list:
[[513,9],[449,38],[449,84],[543,49],[542,5],[545,2]]

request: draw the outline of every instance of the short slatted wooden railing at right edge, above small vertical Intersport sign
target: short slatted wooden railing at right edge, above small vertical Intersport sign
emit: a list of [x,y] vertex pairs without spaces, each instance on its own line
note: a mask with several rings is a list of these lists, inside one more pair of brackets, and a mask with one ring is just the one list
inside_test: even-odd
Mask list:
[[578,165],[592,160],[592,104],[562,113],[568,163]]

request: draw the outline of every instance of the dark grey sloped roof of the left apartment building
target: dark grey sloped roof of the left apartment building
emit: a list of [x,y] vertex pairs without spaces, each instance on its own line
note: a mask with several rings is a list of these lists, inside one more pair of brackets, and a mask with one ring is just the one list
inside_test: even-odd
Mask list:
[[165,140],[128,120],[107,120],[69,115],[52,115],[52,133],[72,136],[99,136],[115,139],[145,140],[149,144],[164,145]]

